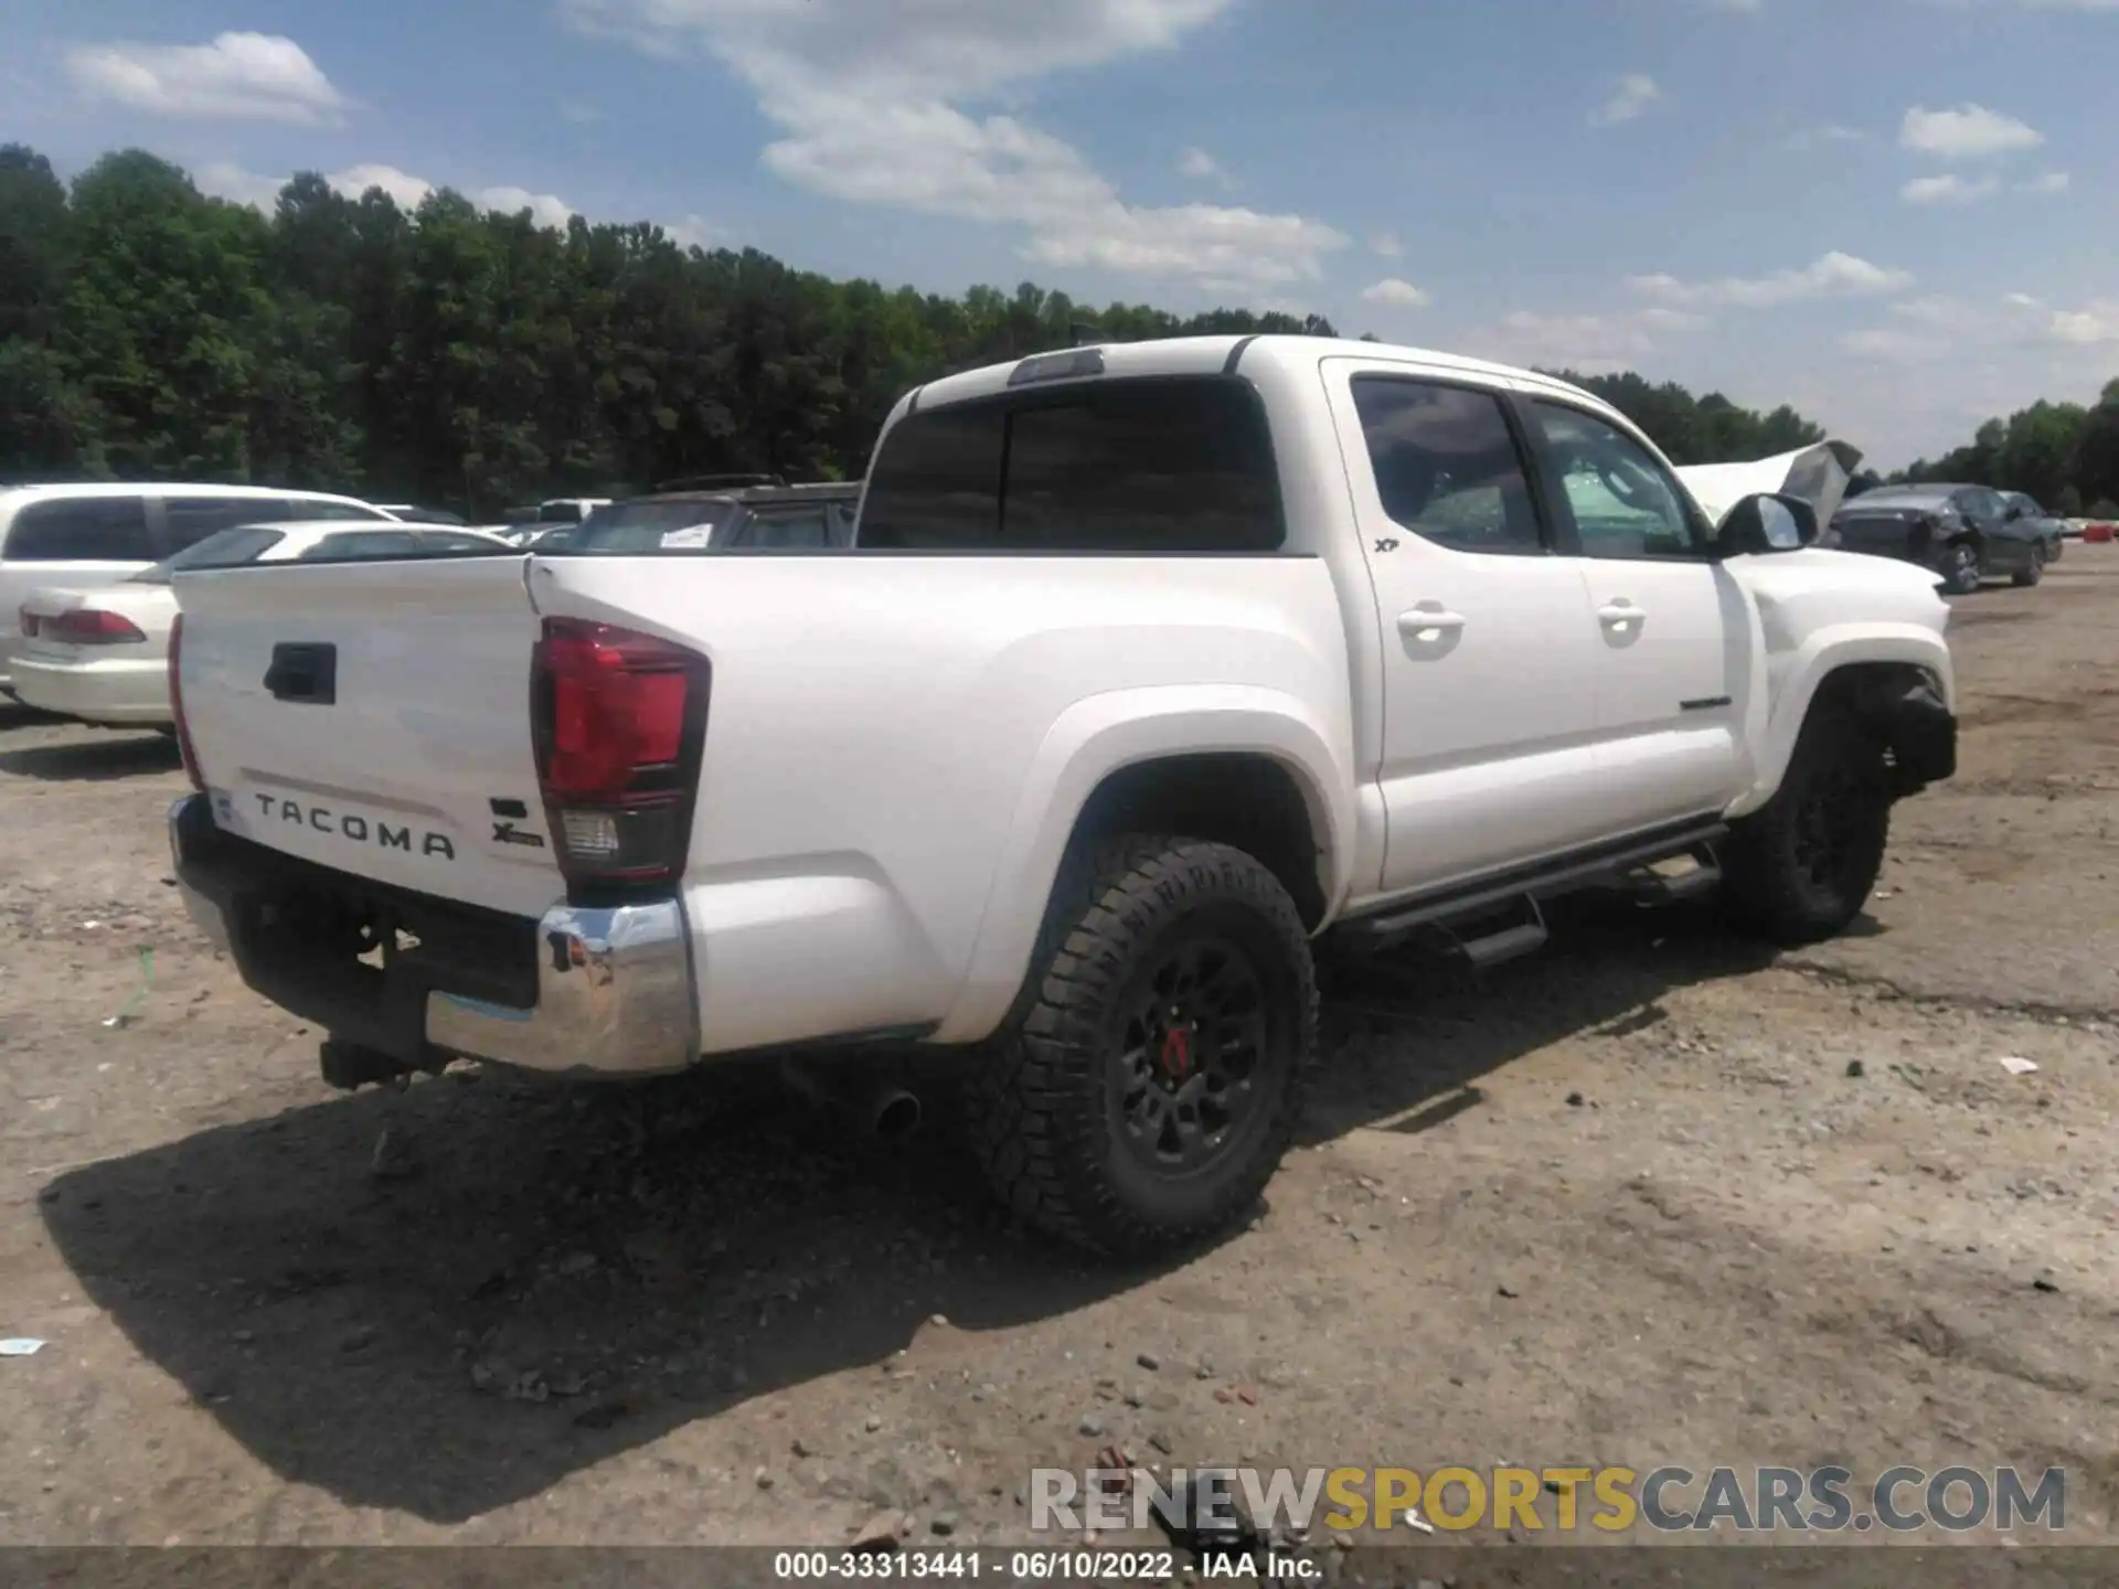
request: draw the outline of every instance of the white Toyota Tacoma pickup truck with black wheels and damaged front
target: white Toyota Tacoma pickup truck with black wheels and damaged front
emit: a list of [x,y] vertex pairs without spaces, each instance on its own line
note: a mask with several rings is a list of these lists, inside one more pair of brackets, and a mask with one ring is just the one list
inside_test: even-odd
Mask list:
[[1144,1252],[1274,1174],[1320,934],[1860,911],[1947,610],[1814,536],[1543,375],[1040,354],[898,403],[852,551],[178,574],[176,867],[339,1085],[939,1045],[998,1191]]

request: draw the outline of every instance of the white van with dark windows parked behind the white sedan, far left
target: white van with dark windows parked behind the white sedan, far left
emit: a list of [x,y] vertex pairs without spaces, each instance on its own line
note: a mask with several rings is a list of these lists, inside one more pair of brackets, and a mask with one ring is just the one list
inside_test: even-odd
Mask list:
[[[0,489],[0,614],[38,585],[95,589],[195,547],[235,523],[348,521],[390,515],[328,492],[256,485],[17,485]],[[0,631],[0,691],[11,689],[13,640]]]

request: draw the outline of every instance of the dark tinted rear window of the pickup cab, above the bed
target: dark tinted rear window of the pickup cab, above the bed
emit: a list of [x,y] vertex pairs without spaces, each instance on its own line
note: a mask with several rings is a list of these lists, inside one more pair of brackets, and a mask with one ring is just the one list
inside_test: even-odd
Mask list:
[[1274,443],[1233,379],[1132,379],[901,419],[862,549],[1263,553],[1286,538]]

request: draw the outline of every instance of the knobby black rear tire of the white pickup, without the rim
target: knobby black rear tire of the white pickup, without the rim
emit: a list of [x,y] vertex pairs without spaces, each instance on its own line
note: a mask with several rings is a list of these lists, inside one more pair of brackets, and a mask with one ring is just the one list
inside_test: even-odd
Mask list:
[[[1233,945],[1254,972],[1263,1042],[1242,1129],[1185,1178],[1144,1167],[1117,1117],[1125,1021],[1187,943]],[[1310,934],[1280,881],[1242,850],[1129,835],[1062,869],[1030,985],[964,1089],[973,1153],[1045,1235],[1144,1258],[1244,1218],[1295,1136],[1316,1066]]]

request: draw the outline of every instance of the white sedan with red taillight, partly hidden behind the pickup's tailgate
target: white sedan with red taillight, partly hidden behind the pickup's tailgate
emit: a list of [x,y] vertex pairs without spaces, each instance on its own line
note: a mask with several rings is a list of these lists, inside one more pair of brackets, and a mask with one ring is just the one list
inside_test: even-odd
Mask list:
[[170,729],[172,568],[337,564],[513,553],[500,536],[434,523],[252,523],[93,591],[44,587],[21,604],[15,695],[42,712],[108,727]]

